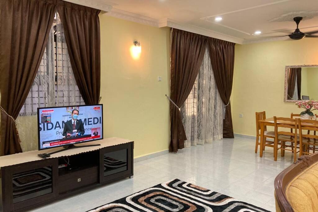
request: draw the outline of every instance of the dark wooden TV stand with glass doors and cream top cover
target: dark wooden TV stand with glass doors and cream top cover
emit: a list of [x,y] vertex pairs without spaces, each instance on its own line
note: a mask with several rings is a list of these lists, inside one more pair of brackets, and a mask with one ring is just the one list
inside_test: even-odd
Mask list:
[[88,144],[100,146],[72,148],[46,159],[38,154],[63,147],[0,157],[3,211],[25,211],[97,184],[133,176],[133,141],[108,138],[76,146]]

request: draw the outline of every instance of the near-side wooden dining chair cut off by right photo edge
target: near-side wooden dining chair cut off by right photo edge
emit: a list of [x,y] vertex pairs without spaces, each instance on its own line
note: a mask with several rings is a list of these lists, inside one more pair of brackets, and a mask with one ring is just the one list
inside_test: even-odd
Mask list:
[[[315,153],[315,150],[318,150],[318,135],[316,132],[318,131],[318,121],[317,120],[298,120],[299,126],[299,134],[300,134],[300,153],[299,156],[302,154],[311,154],[310,150]],[[303,133],[302,130],[308,130],[307,132],[313,131],[313,134],[310,133]],[[312,147],[311,147],[312,146]]]

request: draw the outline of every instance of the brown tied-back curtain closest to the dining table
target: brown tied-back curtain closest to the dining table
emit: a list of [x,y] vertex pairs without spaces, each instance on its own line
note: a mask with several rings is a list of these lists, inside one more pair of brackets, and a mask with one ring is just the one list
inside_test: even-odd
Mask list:
[[235,43],[209,38],[208,48],[215,82],[226,106],[223,120],[223,137],[234,138],[230,97],[233,84]]

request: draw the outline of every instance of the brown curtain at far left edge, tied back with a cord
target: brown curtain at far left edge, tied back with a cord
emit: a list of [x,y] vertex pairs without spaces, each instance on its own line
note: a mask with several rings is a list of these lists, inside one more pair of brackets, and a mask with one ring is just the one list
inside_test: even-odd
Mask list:
[[56,6],[53,0],[0,1],[0,155],[22,152],[15,126],[38,71]]

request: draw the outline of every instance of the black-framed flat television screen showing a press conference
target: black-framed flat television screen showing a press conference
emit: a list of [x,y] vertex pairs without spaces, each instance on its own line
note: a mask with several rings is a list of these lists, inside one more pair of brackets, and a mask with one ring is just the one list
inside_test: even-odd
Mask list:
[[38,149],[103,139],[103,105],[38,108]]

